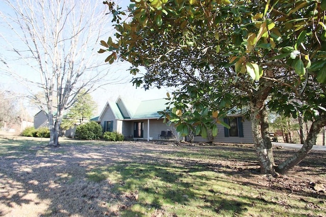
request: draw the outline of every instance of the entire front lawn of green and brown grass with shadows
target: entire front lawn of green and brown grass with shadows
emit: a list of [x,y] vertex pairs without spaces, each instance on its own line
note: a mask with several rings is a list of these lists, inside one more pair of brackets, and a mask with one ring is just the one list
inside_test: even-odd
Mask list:
[[[321,151],[273,177],[252,145],[61,144],[0,139],[0,215],[326,216]],[[275,150],[276,161],[293,151]]]

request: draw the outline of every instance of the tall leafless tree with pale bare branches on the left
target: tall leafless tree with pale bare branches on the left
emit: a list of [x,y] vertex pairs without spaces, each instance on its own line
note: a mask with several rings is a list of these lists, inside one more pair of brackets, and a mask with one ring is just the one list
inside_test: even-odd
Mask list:
[[[49,120],[49,145],[59,146],[66,109],[81,90],[115,82],[98,61],[97,44],[107,34],[101,1],[2,0],[0,68],[25,85]],[[42,95],[34,94],[42,91]]]

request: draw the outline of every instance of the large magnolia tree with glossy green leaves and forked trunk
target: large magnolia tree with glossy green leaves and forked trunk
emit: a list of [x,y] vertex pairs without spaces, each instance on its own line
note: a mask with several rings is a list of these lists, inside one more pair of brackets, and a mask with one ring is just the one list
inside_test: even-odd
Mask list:
[[[179,132],[215,135],[230,108],[246,105],[261,172],[284,174],[305,158],[326,125],[326,1],[131,2],[124,22],[125,11],[104,2],[117,33],[99,52],[110,53],[109,63],[129,61],[132,74],[144,66],[146,74],[133,80],[138,86],[180,87],[174,108],[162,112]],[[302,149],[279,165],[267,106],[312,121]]]

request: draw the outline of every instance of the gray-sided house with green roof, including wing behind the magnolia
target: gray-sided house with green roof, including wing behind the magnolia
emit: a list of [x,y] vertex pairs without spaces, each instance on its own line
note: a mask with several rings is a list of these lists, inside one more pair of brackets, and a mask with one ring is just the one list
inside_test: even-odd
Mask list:
[[[104,132],[118,132],[125,138],[156,140],[161,139],[162,131],[171,130],[158,114],[166,109],[168,101],[165,99],[132,102],[122,100],[107,102],[97,121]],[[218,125],[219,133],[214,142],[253,143],[251,121],[245,120],[240,111],[230,111],[225,119],[230,129]],[[206,138],[196,136],[195,141],[204,142]]]

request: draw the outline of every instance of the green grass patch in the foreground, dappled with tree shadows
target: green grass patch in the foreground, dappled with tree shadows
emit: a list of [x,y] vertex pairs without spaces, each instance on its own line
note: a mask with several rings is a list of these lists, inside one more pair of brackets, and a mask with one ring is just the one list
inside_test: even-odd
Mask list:
[[[128,198],[129,207],[121,212],[121,216],[151,216],[157,210],[164,210],[164,216],[305,216],[321,213],[307,209],[305,200],[256,185],[237,183],[228,174],[211,171],[206,166],[118,163],[96,168],[88,173],[88,178],[110,180],[115,184],[113,191]],[[312,204],[320,202],[315,198],[309,200]]]

